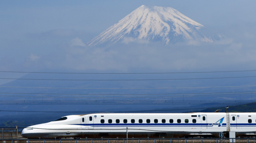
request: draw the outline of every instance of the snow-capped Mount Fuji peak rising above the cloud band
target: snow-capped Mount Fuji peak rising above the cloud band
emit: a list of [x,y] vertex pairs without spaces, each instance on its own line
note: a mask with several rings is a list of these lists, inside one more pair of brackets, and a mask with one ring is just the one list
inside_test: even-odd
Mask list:
[[118,42],[146,40],[174,44],[185,40],[211,43],[213,38],[198,30],[203,25],[170,7],[140,6],[132,13],[100,33],[88,46],[110,46]]

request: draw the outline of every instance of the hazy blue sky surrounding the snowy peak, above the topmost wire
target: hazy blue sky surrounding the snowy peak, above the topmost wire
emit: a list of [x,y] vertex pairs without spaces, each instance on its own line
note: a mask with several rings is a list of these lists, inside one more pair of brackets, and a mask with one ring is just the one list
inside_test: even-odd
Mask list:
[[[213,34],[212,44],[85,44],[141,5],[172,7]],[[251,70],[256,62],[256,1],[0,1],[1,71]]]

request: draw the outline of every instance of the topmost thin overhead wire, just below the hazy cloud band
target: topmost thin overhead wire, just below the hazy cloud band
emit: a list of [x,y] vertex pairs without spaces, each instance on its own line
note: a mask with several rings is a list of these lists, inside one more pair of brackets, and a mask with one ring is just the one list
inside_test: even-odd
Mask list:
[[177,73],[221,73],[221,72],[250,72],[256,70],[237,70],[237,71],[206,71],[206,72],[142,72],[142,73],[75,73],[75,72],[24,72],[24,71],[0,71],[8,73],[46,73],[46,74],[177,74]]

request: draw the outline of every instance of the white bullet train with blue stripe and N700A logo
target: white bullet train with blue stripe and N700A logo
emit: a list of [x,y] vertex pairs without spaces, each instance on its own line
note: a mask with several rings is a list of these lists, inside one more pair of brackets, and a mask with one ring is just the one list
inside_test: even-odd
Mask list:
[[22,130],[25,138],[246,137],[256,113],[97,113],[70,115]]

